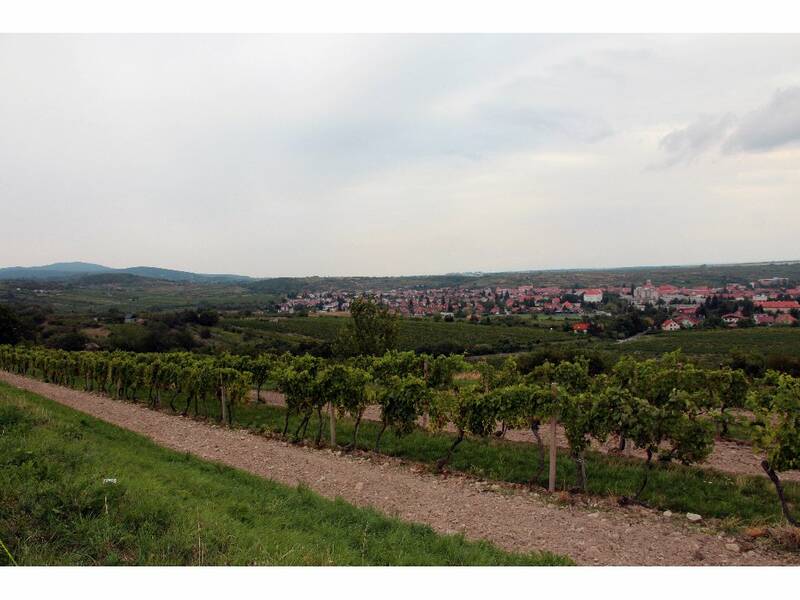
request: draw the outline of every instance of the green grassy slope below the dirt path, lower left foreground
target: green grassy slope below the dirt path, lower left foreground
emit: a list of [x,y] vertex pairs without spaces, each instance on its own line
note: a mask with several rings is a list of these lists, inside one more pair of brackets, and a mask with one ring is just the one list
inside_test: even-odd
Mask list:
[[[0,540],[20,565],[570,563],[198,460],[5,384]],[[0,548],[0,565],[10,563]]]

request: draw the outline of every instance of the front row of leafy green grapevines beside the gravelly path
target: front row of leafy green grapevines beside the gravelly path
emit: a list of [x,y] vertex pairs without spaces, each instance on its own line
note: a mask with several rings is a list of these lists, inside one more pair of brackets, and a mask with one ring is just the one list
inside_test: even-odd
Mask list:
[[[326,413],[350,423],[345,428],[348,437],[338,438],[346,448],[381,451],[387,431],[397,447],[397,440],[419,435],[418,423],[428,434],[439,436],[436,440],[444,439],[446,428],[454,429],[445,446],[434,444],[439,448],[434,460],[438,470],[470,445],[467,440],[493,441],[508,429],[526,429],[538,440],[535,452],[520,456],[518,446],[508,445],[503,451],[476,456],[473,446],[466,455],[476,456],[484,469],[502,472],[508,458],[504,452],[509,453],[515,472],[524,469],[531,486],[541,483],[547,462],[540,428],[557,421],[569,445],[573,482],[568,487],[595,491],[590,486],[594,474],[608,485],[615,472],[630,483],[635,470],[635,486],[623,495],[623,503],[641,502],[653,482],[669,485],[669,477],[666,483],[663,480],[670,473],[664,465],[701,462],[712,451],[716,434],[725,434],[731,410],[747,407],[755,414],[751,436],[762,455],[762,467],[783,515],[795,522],[789,505],[797,492],[794,486],[784,486],[779,473],[800,467],[800,381],[774,372],[749,380],[741,371],[700,369],[679,353],[644,361],[624,357],[611,372],[591,375],[582,359],[546,362],[525,374],[508,359],[498,367],[480,363],[475,373],[476,367],[460,355],[412,352],[334,362],[307,355],[211,358],[3,346],[0,367],[151,408],[168,406],[228,426],[239,422],[240,410],[254,410],[245,403],[251,389],[260,398],[265,386],[275,385],[287,403],[278,429],[293,440],[335,445],[338,429],[333,419],[326,421]],[[369,405],[380,409],[378,424],[362,422]],[[261,408],[264,415],[266,408]],[[328,435],[324,435],[326,422],[332,425]],[[589,452],[590,444],[610,437],[620,447],[633,444],[643,449],[647,460],[637,461],[641,465],[635,469],[630,464],[608,468],[598,463]],[[486,464],[487,454],[503,464]]]

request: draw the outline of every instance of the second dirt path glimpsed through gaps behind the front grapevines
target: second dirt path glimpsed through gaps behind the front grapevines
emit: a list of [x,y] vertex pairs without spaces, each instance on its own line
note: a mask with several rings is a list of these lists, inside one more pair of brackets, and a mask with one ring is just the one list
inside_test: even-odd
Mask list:
[[[252,392],[250,395],[251,401],[255,402],[256,394]],[[272,406],[286,406],[283,394],[279,392],[261,392],[261,400]],[[377,406],[368,406],[364,411],[364,419],[368,421],[380,421],[380,409]],[[547,427],[542,428],[542,439],[545,444],[549,443],[550,432]],[[564,429],[559,426],[556,432],[558,445],[561,448],[567,448],[567,438],[564,435]],[[534,443],[533,434],[530,431],[511,430],[507,431],[505,438],[515,442],[528,442]],[[615,452],[616,440],[610,439],[606,444],[598,444],[592,442],[592,448],[600,452]],[[644,460],[644,450],[628,448],[623,452],[624,456],[635,456]],[[711,455],[700,463],[698,466],[718,471],[724,471],[732,475],[757,475],[759,477],[766,477],[764,470],[761,468],[761,459],[753,452],[751,446],[727,440],[716,440],[714,449]],[[784,471],[781,473],[781,480],[783,481],[800,481],[800,471]]]

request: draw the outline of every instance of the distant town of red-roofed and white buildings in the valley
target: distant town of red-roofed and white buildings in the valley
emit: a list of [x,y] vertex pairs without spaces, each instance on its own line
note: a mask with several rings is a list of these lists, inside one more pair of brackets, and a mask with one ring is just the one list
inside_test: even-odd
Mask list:
[[[794,284],[794,285],[792,285]],[[446,287],[393,289],[388,291],[331,290],[290,294],[279,305],[283,314],[346,313],[353,298],[371,295],[404,317],[434,317],[443,320],[480,320],[493,316],[563,315],[611,316],[620,306],[646,311],[658,309],[658,327],[664,331],[691,329],[701,325],[708,308],[730,307],[720,314],[722,324],[735,326],[794,325],[800,311],[800,286],[783,277],[759,279],[749,284],[722,287],[679,287],[669,283],[599,288],[534,287]],[[580,320],[579,320],[580,321]],[[586,333],[588,322],[577,322],[573,331]]]

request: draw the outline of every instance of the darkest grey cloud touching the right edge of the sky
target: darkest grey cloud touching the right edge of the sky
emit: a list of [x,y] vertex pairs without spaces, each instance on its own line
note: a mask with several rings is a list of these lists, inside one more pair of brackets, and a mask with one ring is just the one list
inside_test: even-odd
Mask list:
[[778,90],[772,100],[747,114],[724,149],[728,152],[764,152],[800,142],[800,87]]

